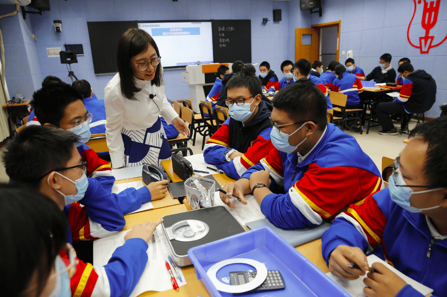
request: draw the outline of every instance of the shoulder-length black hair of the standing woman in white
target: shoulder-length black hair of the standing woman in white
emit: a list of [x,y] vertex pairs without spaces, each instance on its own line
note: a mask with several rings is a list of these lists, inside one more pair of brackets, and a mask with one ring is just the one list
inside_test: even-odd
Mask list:
[[[137,100],[135,93],[141,91],[135,85],[132,69],[130,68],[130,60],[137,54],[147,50],[149,46],[152,46],[160,56],[157,44],[152,36],[142,29],[130,28],[120,37],[116,48],[116,64],[118,65],[118,73],[120,73],[121,93],[129,100]],[[163,67],[161,62],[157,65],[155,71],[155,77],[151,81],[151,85],[157,87],[163,84]]]

